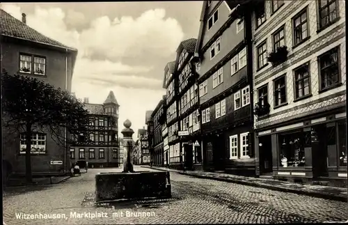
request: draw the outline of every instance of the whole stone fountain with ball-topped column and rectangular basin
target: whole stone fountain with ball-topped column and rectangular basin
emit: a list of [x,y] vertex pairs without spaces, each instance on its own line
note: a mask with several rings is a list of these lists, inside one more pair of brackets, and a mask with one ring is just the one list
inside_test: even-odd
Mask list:
[[95,175],[95,201],[171,198],[171,180],[168,171],[134,171],[131,121],[123,123],[123,147],[126,151],[122,172]]

